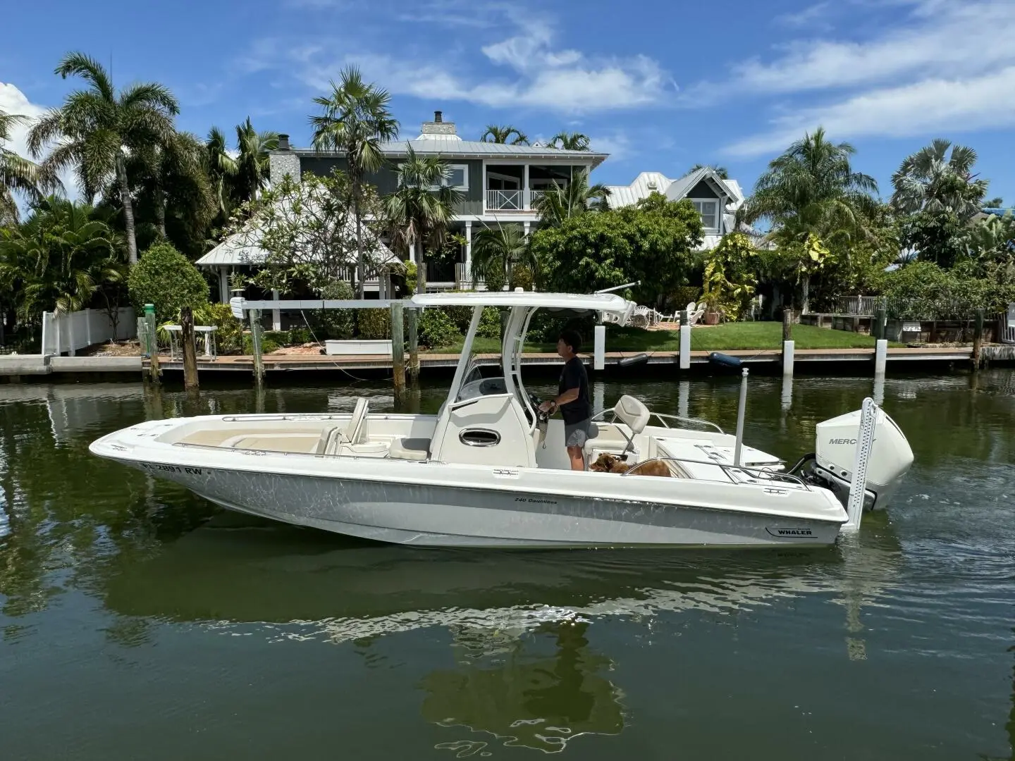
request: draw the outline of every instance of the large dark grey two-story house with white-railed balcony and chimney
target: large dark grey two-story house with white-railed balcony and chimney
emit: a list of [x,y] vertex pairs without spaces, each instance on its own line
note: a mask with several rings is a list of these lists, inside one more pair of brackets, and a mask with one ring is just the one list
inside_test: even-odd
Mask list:
[[[436,153],[444,157],[451,169],[449,184],[463,195],[449,232],[461,234],[465,245],[456,262],[445,266],[430,263],[426,280],[427,286],[434,290],[456,284],[467,286],[471,282],[472,235],[480,226],[514,222],[523,225],[528,233],[539,224],[533,202],[541,193],[554,183],[565,187],[580,172],[591,171],[607,157],[605,153],[560,150],[539,144],[463,140],[456,133],[455,124],[444,121],[438,111],[434,112],[432,122],[423,123],[418,137],[382,145],[388,161],[366,178],[382,196],[397,190],[398,163],[405,158],[408,146],[418,154]],[[270,157],[272,182],[285,175],[326,176],[333,168],[345,166],[342,153],[294,148],[286,135],[280,136],[278,150]],[[418,264],[415,247],[410,249],[409,257]]]

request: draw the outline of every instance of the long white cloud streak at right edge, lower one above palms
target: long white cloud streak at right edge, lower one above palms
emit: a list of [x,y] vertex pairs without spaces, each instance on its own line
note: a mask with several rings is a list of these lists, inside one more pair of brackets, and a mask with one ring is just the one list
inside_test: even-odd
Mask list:
[[943,130],[1015,125],[1015,66],[964,79],[925,79],[862,92],[825,107],[780,117],[772,129],[725,150],[751,156],[786,148],[804,132],[824,127],[834,139],[907,137]]

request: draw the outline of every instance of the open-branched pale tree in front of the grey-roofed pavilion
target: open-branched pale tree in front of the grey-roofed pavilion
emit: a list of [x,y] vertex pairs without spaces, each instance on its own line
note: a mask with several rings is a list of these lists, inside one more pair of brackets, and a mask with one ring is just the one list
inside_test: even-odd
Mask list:
[[[286,176],[259,200],[238,209],[227,230],[238,243],[265,252],[255,281],[264,288],[324,294],[344,277],[354,280],[357,262],[365,277],[385,265],[381,243],[384,208],[371,186],[360,191],[364,225],[357,236],[352,180],[337,169],[329,177]],[[361,255],[361,258],[360,258]]]

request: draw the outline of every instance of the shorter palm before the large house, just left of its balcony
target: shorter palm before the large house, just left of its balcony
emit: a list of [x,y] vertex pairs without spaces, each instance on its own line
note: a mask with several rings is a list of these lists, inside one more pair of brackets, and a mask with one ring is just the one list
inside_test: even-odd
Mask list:
[[438,155],[420,155],[406,144],[406,157],[398,165],[398,190],[384,200],[392,237],[418,247],[416,289],[426,292],[426,245],[444,245],[448,223],[462,193],[448,187],[451,170]]

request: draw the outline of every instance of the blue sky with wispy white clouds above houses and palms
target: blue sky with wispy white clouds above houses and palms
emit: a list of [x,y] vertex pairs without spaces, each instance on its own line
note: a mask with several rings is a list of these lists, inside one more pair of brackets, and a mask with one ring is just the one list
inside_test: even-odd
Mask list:
[[[306,146],[313,98],[355,64],[404,138],[434,110],[465,139],[583,132],[611,154],[600,183],[710,163],[749,191],[823,126],[884,198],[902,158],[944,137],[1015,202],[1015,0],[50,0],[0,18],[8,113],[62,102],[75,82],[53,70],[80,50],[118,85],[167,85],[180,129],[231,134],[250,116]],[[23,130],[8,147],[24,152]]]

